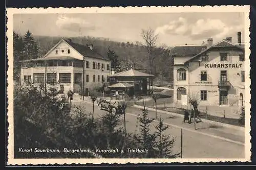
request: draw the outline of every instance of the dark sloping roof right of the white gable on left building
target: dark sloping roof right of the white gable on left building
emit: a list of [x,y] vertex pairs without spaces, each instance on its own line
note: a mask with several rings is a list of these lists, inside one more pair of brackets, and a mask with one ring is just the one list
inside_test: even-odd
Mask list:
[[108,57],[104,57],[104,56],[98,54],[97,52],[91,50],[90,47],[88,47],[86,45],[81,45],[81,44],[78,44],[78,43],[74,43],[74,42],[69,41],[69,40],[65,40],[65,41],[69,45],[71,45],[73,48],[75,48],[75,50],[78,51],[84,57],[92,57],[92,58],[97,58],[97,59],[110,61],[110,59]]

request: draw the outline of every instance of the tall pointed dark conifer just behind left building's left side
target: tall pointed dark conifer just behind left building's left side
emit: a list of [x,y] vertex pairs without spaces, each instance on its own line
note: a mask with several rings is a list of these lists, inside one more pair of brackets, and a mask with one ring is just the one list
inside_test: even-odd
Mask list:
[[34,59],[38,57],[39,48],[37,42],[34,40],[34,37],[29,32],[26,32],[24,36],[24,53],[26,55],[26,59]]

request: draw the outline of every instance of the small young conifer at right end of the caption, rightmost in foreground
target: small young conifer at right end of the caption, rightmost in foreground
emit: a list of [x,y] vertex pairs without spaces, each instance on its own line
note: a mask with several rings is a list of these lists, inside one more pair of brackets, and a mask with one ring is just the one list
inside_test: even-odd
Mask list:
[[172,148],[175,143],[175,138],[170,135],[164,135],[169,126],[163,124],[163,119],[159,118],[159,123],[155,126],[157,129],[156,134],[159,140],[156,142],[156,148],[158,151],[157,156],[159,158],[176,158],[179,154],[172,155]]

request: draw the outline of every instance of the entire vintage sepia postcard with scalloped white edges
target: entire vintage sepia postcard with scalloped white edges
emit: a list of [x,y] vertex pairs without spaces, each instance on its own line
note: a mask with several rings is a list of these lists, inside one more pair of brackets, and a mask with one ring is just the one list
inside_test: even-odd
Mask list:
[[8,8],[7,164],[250,161],[249,11]]

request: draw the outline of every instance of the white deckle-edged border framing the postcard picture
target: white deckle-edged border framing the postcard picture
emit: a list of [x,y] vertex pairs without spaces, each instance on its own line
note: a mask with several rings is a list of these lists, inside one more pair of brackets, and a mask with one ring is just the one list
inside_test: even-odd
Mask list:
[[244,159],[14,159],[14,133],[13,133],[13,14],[42,14],[42,13],[181,13],[181,12],[244,12],[245,16],[245,56],[250,55],[249,37],[249,10],[250,6],[179,6],[179,7],[89,7],[89,8],[7,8],[7,56],[8,56],[8,78],[7,78],[7,97],[8,97],[8,165],[27,165],[27,164],[86,164],[86,163],[171,163],[171,162],[231,162],[249,161],[251,156],[250,143],[250,60],[245,58],[245,158]]

